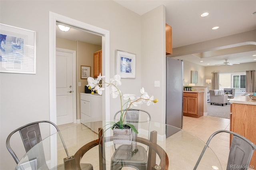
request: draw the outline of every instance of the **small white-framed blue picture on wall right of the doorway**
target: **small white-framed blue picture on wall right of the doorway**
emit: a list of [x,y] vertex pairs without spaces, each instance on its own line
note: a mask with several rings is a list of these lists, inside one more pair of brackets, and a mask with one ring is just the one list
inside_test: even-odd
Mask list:
[[119,74],[121,78],[135,79],[136,55],[116,50],[116,74]]

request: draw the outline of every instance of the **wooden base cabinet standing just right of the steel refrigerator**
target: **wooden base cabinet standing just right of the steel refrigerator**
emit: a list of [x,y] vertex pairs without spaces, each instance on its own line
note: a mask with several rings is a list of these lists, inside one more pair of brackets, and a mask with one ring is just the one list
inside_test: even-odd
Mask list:
[[201,117],[204,115],[204,93],[183,93],[183,115]]

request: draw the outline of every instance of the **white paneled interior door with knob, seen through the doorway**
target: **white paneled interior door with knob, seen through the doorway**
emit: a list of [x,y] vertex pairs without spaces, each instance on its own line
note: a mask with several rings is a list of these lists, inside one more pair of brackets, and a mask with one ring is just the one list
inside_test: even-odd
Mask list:
[[57,125],[74,122],[75,98],[75,51],[56,50],[56,109]]

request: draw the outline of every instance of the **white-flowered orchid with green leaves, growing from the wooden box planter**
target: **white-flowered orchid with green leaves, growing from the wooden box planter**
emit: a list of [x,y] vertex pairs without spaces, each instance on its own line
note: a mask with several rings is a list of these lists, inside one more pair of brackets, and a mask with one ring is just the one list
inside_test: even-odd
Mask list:
[[[110,82],[107,83],[104,81],[105,76],[102,76],[101,74],[96,78],[88,77],[88,89],[90,89],[92,94],[98,93],[99,95],[102,95],[102,91],[104,91],[104,88],[102,87],[103,84],[106,86],[110,86],[110,93],[112,94],[112,98],[120,98],[121,104],[121,114],[118,122],[111,122],[112,129],[119,128],[119,129],[126,129],[131,128],[135,133],[138,133],[134,125],[130,123],[126,123],[126,112],[128,109],[132,108],[132,106],[138,106],[143,103],[146,103],[146,105],[154,105],[154,103],[158,102],[158,99],[154,99],[154,96],[149,96],[148,93],[142,89],[140,89],[141,95],[139,97],[135,97],[136,95],[133,94],[123,94],[119,89],[118,86],[122,85],[121,83],[121,77],[120,75],[114,75],[113,78],[110,79]],[[100,83],[101,82],[101,83]]]

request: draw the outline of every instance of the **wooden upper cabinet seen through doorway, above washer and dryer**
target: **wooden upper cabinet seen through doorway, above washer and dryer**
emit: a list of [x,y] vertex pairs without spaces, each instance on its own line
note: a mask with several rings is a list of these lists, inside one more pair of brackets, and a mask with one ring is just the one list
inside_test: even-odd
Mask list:
[[102,50],[93,53],[93,77],[102,75]]

